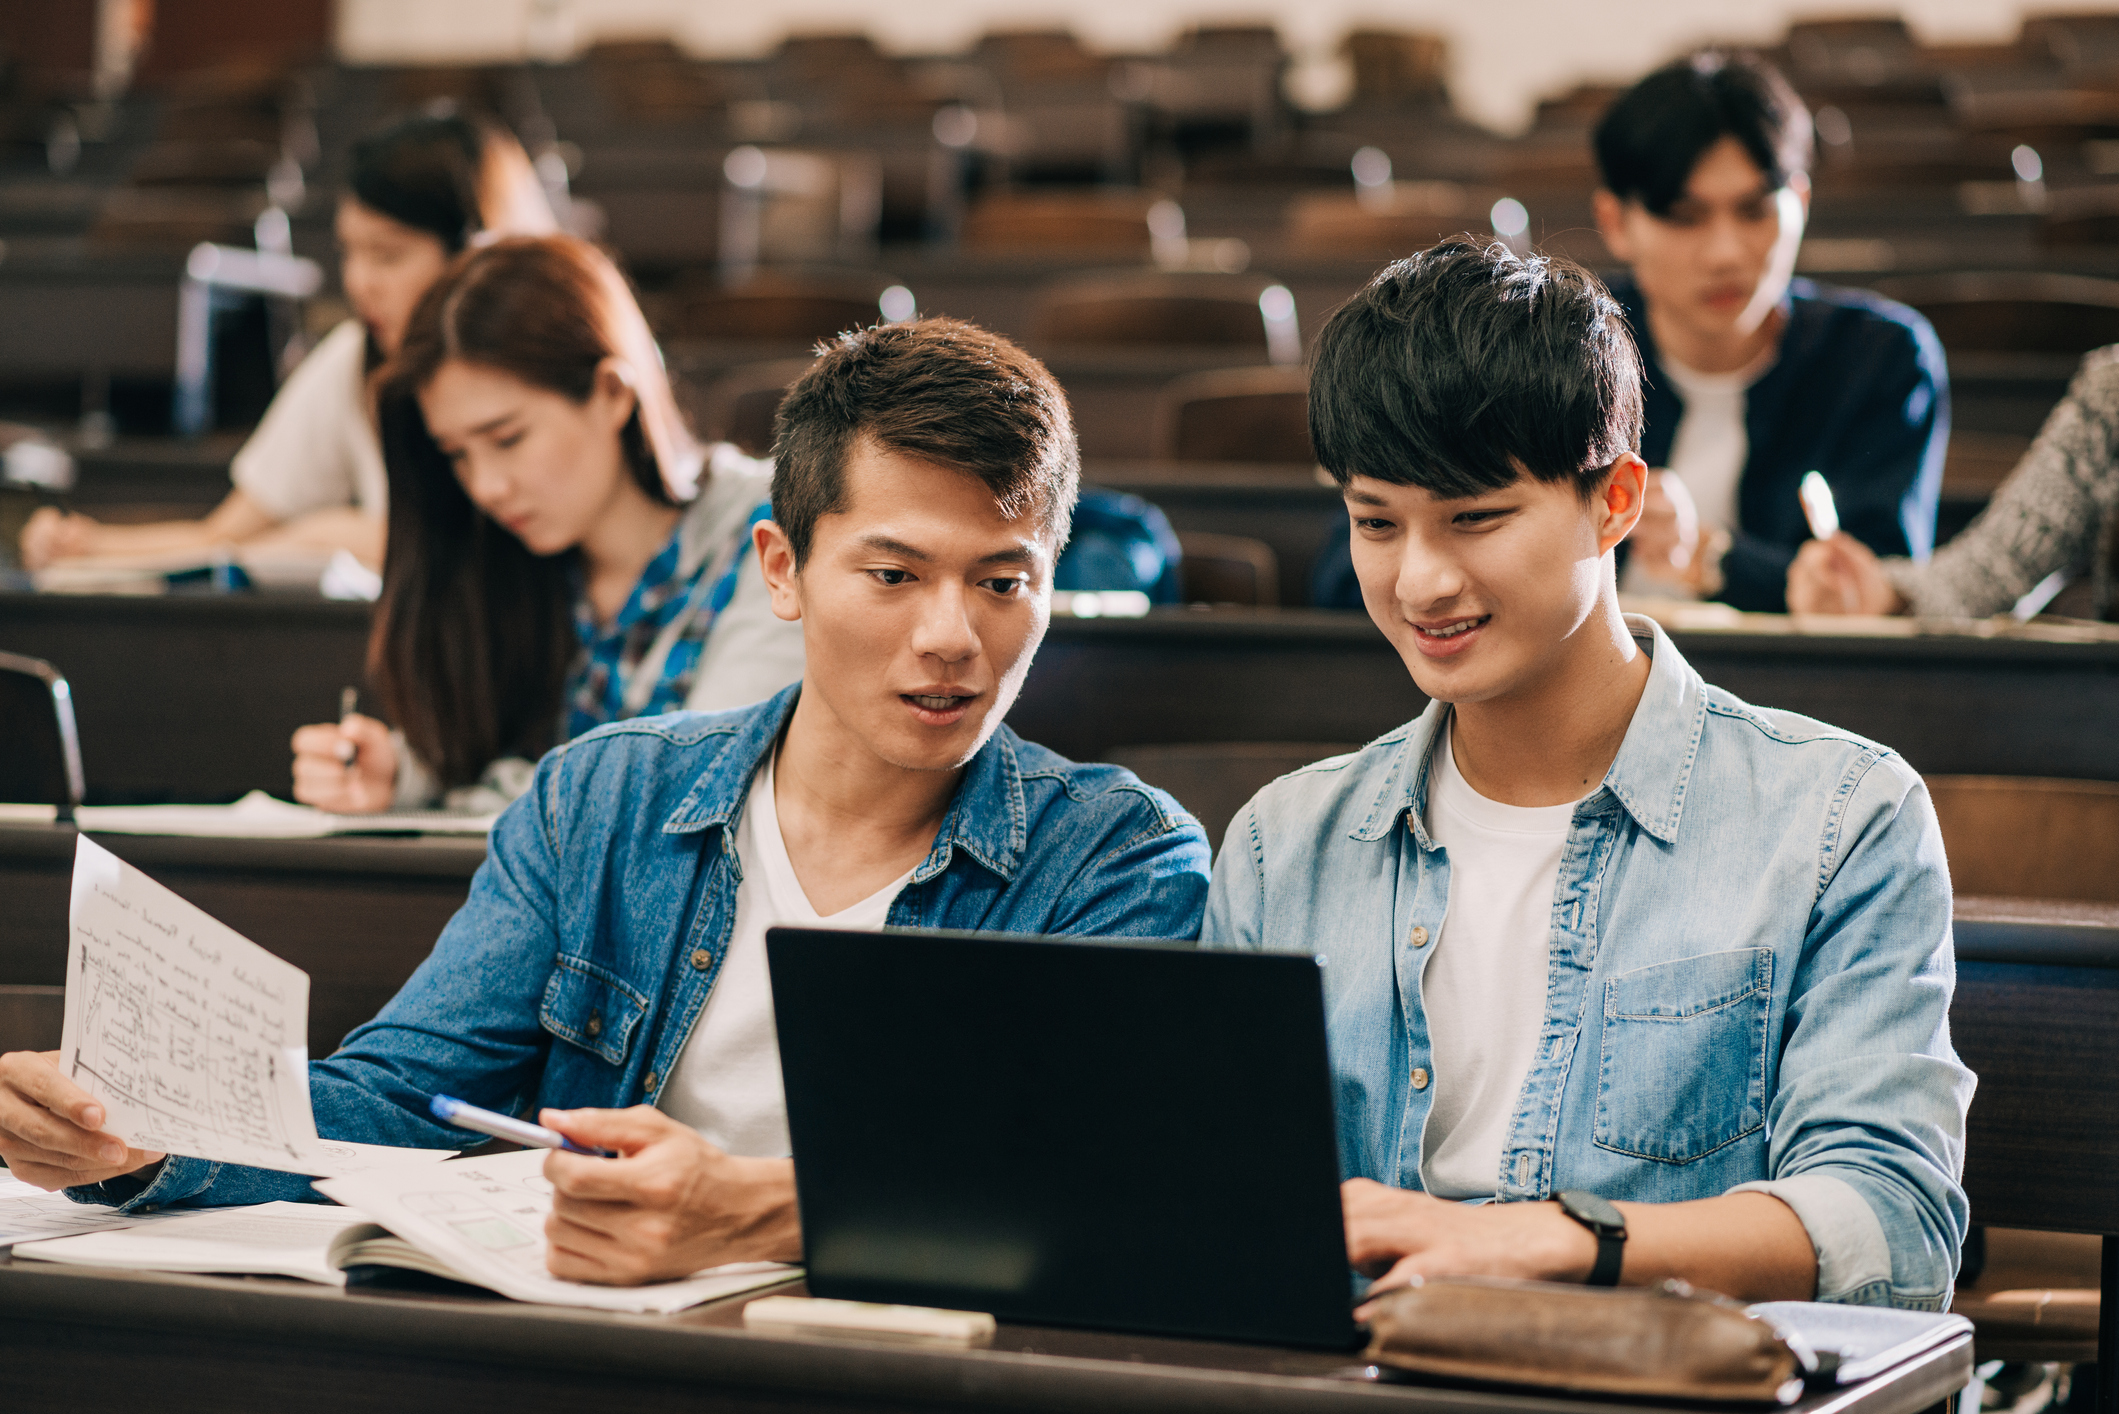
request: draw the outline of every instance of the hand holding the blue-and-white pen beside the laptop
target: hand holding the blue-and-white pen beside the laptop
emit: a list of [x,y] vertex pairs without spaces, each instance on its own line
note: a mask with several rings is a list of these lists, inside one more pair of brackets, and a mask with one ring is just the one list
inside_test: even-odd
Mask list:
[[638,1287],[725,1261],[801,1259],[793,1160],[723,1153],[648,1104],[547,1109],[538,1124],[619,1153],[545,1160],[553,1276]]

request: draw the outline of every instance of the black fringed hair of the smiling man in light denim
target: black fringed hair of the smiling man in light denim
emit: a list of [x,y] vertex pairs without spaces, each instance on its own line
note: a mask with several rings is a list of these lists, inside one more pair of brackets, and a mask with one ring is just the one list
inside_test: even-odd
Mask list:
[[1640,445],[1640,352],[1581,265],[1443,242],[1326,320],[1310,441],[1341,488],[1363,475],[1458,498],[1528,471],[1587,496]]

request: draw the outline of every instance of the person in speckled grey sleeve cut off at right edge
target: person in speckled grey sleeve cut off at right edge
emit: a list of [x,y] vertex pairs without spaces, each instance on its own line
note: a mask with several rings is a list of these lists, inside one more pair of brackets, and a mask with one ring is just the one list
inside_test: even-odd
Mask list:
[[2038,441],[1979,513],[1926,564],[1877,555],[1839,532],[1810,541],[1788,566],[1795,613],[1911,613],[1986,619],[2053,572],[2096,575],[2098,617],[2119,608],[2113,532],[2119,517],[2119,346],[2083,358]]

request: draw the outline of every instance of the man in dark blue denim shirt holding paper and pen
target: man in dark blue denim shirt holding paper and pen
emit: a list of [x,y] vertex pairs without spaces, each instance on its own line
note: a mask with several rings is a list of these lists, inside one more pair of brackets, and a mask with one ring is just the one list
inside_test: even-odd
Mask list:
[[[829,348],[782,405],[754,541],[803,681],[545,757],[434,954],[311,1066],[318,1132],[479,1143],[428,1117],[447,1092],[617,1149],[547,1162],[559,1276],[799,1259],[767,924],[1195,937],[1199,825],[1000,725],[1076,477],[1066,396],[1007,339],[920,320]],[[0,1157],[30,1183],[127,1208],[314,1198],[127,1149],[55,1060],[0,1058]]]

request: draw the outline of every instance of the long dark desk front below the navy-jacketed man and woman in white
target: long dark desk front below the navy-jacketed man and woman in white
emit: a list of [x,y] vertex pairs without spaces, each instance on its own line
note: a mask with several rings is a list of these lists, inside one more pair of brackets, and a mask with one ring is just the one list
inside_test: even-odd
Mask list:
[[[1676,632],[1714,685],[1897,748],[1926,774],[2119,780],[2119,636]],[[0,649],[74,689],[100,801],[288,789],[295,727],[362,683],[369,606],[278,596],[0,594]],[[2094,632],[2094,630],[2091,630]],[[1055,619],[1009,717],[1079,761],[1180,742],[1367,742],[1422,708],[1358,613]]]

